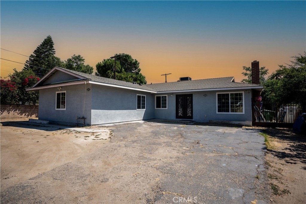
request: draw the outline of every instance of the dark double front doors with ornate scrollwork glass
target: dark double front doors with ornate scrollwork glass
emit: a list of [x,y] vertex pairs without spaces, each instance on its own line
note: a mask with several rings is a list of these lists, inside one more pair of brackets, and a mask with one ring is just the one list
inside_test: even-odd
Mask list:
[[192,94],[176,95],[176,118],[192,119]]

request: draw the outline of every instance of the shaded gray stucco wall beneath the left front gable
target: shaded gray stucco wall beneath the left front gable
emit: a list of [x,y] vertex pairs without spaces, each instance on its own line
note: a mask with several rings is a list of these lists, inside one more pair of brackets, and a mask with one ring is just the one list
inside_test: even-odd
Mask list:
[[[76,117],[86,117],[86,124],[91,124],[91,84],[61,86],[66,91],[66,110],[55,109],[57,87],[39,90],[38,119],[61,124],[76,124]],[[85,100],[84,100],[85,98]],[[84,106],[85,102],[85,106]],[[83,114],[84,111],[84,114]],[[79,120],[83,124],[83,120]]]

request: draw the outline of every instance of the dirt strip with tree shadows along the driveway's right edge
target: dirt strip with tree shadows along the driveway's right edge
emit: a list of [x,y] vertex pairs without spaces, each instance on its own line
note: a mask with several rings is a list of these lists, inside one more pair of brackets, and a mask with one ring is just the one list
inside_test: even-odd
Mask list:
[[266,154],[267,177],[273,189],[272,203],[306,202],[306,136],[292,129],[266,128],[272,149]]

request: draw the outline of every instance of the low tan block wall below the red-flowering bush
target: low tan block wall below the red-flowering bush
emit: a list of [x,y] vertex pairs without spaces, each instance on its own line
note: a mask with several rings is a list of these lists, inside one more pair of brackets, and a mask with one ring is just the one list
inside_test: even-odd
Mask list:
[[38,117],[38,106],[0,105],[1,119]]

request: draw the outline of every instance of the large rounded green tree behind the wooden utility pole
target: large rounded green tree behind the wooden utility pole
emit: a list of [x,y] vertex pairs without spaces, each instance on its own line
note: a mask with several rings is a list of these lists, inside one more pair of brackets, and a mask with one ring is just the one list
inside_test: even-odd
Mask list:
[[[116,79],[146,84],[146,77],[140,73],[139,62],[129,54],[115,54],[116,56]],[[115,59],[104,59],[96,64],[97,72],[95,75],[106,78],[114,78]]]

